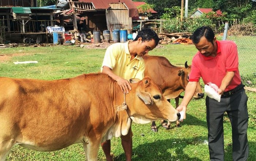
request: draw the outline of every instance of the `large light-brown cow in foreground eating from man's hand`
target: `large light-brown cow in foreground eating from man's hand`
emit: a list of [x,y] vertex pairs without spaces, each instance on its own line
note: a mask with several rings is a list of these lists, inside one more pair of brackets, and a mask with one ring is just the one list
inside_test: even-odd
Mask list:
[[83,143],[86,160],[96,161],[101,142],[126,135],[132,121],[180,117],[149,77],[132,83],[127,95],[105,74],[0,82],[0,161],[15,145],[53,151],[75,143]]

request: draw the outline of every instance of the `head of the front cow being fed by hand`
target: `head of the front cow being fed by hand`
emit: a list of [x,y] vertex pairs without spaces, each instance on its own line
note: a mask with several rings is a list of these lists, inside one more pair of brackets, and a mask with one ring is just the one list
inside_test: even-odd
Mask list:
[[132,91],[127,97],[127,113],[135,123],[149,123],[159,119],[173,122],[179,119],[178,111],[163,97],[161,89],[148,76],[131,86]]

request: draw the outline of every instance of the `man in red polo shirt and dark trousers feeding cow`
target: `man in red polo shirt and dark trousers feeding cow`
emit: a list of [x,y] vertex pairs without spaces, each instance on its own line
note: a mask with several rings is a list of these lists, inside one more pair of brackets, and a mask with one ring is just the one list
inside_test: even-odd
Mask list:
[[224,161],[223,115],[227,112],[232,126],[233,161],[245,161],[249,153],[248,97],[238,70],[237,45],[232,41],[217,41],[211,28],[205,26],[193,33],[192,40],[198,52],[192,60],[189,83],[177,110],[186,112],[200,77],[204,84],[216,84],[221,101],[206,97],[210,160]]

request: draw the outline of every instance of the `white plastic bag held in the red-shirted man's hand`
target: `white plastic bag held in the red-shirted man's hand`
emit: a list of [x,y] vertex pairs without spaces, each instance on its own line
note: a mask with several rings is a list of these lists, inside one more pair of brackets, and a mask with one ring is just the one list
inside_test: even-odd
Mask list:
[[218,102],[221,102],[221,95],[218,94],[218,86],[215,85],[214,83],[207,83],[208,85],[204,86],[204,92],[207,94],[208,97],[215,99]]

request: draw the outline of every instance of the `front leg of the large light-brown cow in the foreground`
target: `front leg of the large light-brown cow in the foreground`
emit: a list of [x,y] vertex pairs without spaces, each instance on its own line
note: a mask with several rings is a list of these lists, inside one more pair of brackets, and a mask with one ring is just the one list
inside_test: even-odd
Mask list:
[[83,143],[83,149],[85,153],[85,158],[87,161],[97,161],[99,152],[100,141],[91,140],[87,143]]

